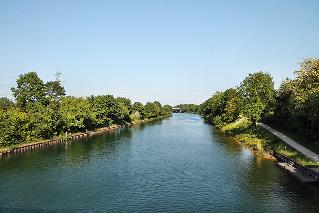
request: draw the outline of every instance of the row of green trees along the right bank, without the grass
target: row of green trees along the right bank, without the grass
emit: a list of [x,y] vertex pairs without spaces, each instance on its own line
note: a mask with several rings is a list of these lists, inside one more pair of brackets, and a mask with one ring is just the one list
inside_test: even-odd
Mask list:
[[319,59],[308,58],[294,71],[297,77],[283,80],[274,89],[269,72],[249,74],[236,88],[218,91],[200,105],[177,105],[182,112],[203,114],[217,128],[249,118],[252,131],[264,121],[300,133],[319,144]]

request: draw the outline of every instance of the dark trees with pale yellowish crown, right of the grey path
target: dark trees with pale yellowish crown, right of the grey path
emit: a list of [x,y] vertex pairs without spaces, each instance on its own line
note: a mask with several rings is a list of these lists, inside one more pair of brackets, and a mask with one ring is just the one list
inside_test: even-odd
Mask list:
[[276,93],[277,105],[268,122],[287,126],[309,138],[310,143],[319,142],[319,59],[304,59],[301,69],[294,73],[296,79],[287,78]]

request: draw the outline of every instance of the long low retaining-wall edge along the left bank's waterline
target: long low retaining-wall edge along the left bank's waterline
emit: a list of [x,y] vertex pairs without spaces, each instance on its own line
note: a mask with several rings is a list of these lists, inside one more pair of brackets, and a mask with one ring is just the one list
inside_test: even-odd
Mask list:
[[56,139],[51,139],[51,140],[43,140],[43,141],[38,141],[38,142],[34,142],[34,143],[21,144],[21,145],[17,145],[17,146],[14,146],[14,147],[12,146],[12,147],[0,150],[0,154],[8,155],[8,154],[16,153],[16,152],[27,151],[27,150],[35,149],[35,148],[38,148],[38,147],[41,147],[41,146],[50,145],[50,144],[53,144],[53,143],[63,142],[65,140],[72,140],[73,138],[78,138],[78,137],[88,136],[88,135],[92,135],[92,134],[97,134],[97,133],[101,133],[101,132],[104,132],[104,131],[110,131],[110,130],[118,129],[118,128],[122,128],[122,127],[128,127],[128,126],[132,126],[134,124],[139,124],[139,123],[143,123],[143,122],[153,121],[153,120],[157,120],[157,119],[168,117],[168,116],[171,116],[171,114],[160,116],[160,117],[157,117],[157,118],[151,118],[151,119],[140,120],[140,121],[136,121],[136,122],[132,122],[132,123],[121,124],[121,125],[114,124],[111,127],[99,128],[99,129],[96,129],[94,131],[78,132],[78,133],[73,134],[73,135],[68,136],[68,137],[58,137]]

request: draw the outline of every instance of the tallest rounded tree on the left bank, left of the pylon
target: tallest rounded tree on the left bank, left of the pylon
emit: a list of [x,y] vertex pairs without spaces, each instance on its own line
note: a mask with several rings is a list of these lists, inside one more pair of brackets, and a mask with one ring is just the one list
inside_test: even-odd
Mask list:
[[24,75],[20,74],[19,78],[16,79],[16,84],[16,89],[14,87],[10,89],[18,106],[20,106],[23,111],[28,102],[47,104],[43,81],[35,72],[28,72]]

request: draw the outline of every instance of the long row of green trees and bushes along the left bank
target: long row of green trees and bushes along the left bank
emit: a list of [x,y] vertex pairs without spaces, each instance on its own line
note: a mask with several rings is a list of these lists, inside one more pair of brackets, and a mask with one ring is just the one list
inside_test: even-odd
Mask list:
[[57,81],[44,83],[35,72],[20,74],[16,87],[11,87],[15,103],[0,98],[0,147],[30,143],[79,132],[156,118],[172,112],[159,101],[131,104],[124,97],[91,95],[66,96]]

